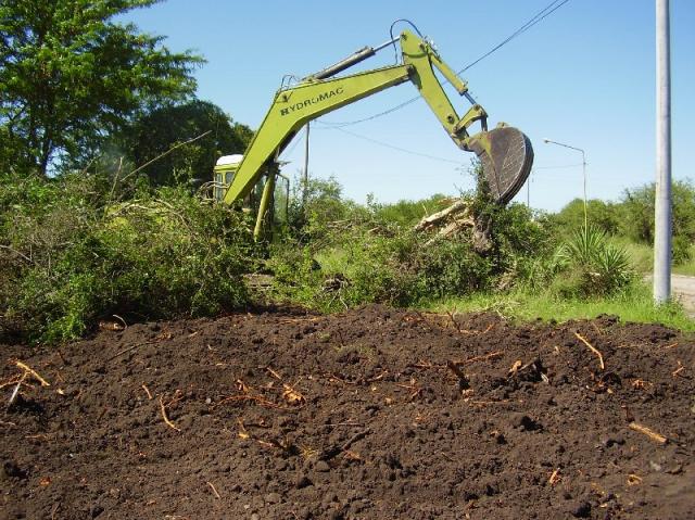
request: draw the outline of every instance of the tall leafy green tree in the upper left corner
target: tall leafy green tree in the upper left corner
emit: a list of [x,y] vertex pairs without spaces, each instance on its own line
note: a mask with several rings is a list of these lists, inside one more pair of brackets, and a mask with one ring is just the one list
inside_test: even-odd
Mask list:
[[159,0],[2,0],[0,158],[39,172],[88,155],[144,106],[181,100],[202,59],[115,16]]

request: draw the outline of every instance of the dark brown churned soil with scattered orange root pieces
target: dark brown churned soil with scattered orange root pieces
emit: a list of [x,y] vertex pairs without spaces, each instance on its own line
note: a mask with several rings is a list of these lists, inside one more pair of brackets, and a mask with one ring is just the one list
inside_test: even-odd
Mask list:
[[[370,306],[1,348],[1,519],[695,518],[695,348],[659,326]],[[7,409],[16,359],[51,385]]]

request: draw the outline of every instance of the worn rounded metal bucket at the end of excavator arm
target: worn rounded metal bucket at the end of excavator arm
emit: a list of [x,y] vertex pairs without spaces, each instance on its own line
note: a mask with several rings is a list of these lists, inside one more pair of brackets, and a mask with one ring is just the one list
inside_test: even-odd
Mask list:
[[471,136],[467,148],[478,155],[492,196],[507,204],[531,173],[533,148],[529,138],[518,128],[503,126]]

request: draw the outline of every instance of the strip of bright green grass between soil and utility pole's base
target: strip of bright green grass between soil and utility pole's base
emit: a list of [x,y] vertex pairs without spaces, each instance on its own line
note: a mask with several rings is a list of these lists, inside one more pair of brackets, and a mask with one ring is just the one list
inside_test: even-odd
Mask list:
[[427,305],[435,312],[496,312],[507,318],[542,319],[558,322],[592,319],[602,314],[615,315],[621,321],[662,324],[683,331],[695,331],[695,320],[680,304],[655,307],[649,289],[642,284],[619,295],[596,299],[560,299],[548,294],[516,291],[506,294],[473,294],[466,299],[445,299]]

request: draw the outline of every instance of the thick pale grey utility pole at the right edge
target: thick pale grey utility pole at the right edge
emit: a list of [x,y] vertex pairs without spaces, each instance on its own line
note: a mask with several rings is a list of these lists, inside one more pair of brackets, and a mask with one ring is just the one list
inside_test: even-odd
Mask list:
[[671,297],[671,50],[669,0],[656,0],[654,302]]

